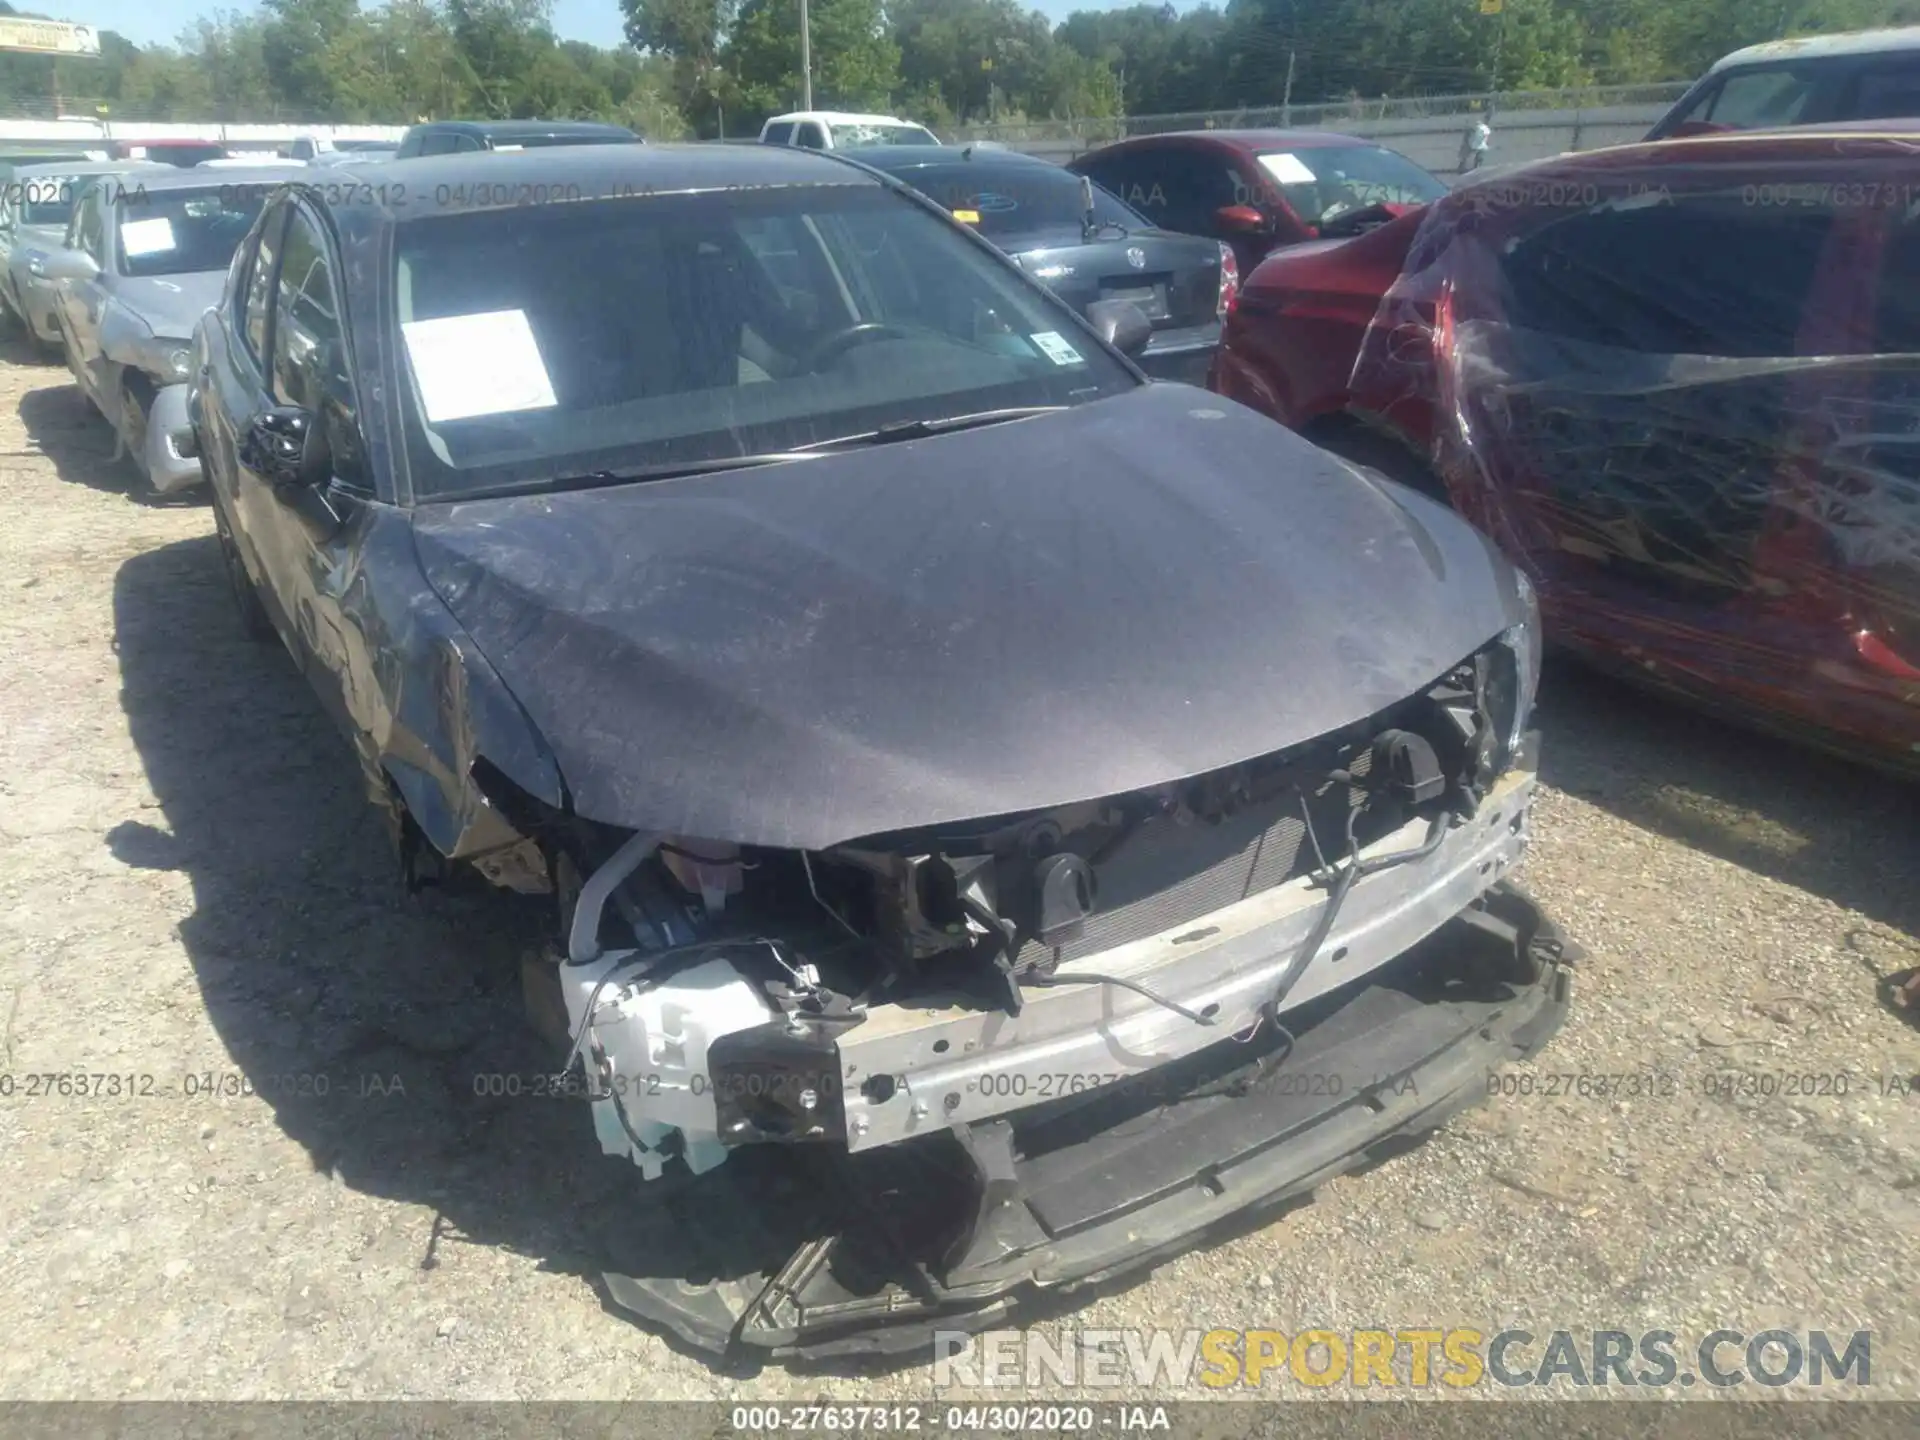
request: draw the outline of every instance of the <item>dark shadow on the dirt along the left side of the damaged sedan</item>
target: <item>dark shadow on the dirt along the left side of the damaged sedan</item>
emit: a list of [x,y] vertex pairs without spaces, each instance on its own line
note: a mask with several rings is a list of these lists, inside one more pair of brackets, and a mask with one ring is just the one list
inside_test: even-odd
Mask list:
[[190,877],[180,943],[207,1018],[315,1171],[432,1210],[420,1267],[501,1246],[626,1321],[607,1269],[766,1263],[764,1227],[689,1254],[668,1215],[687,1196],[603,1158],[584,1104],[541,1098],[557,1056],[522,1018],[520,960],[547,933],[543,902],[403,891],[349,747],[284,649],[242,637],[215,538],[127,561],[113,609],[121,703],[165,824],[129,820],[106,843]]

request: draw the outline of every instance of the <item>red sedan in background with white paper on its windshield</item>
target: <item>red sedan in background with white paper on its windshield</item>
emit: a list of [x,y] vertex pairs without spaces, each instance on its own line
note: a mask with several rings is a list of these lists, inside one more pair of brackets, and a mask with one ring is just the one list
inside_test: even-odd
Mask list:
[[1068,165],[1164,230],[1233,246],[1240,273],[1281,246],[1357,234],[1446,194],[1405,156],[1323,131],[1181,131]]

